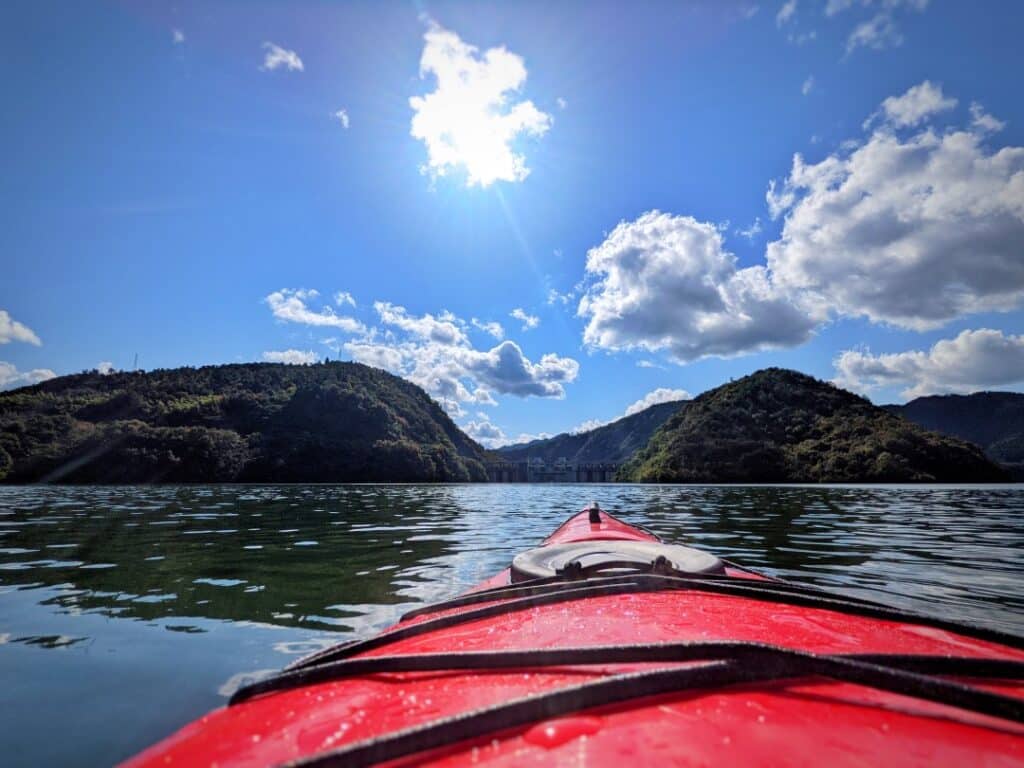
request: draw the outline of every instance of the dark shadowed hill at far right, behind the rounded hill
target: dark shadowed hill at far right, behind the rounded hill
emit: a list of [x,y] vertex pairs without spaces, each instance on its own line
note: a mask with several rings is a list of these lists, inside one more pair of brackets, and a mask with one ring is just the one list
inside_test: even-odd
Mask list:
[[925,429],[977,443],[989,459],[1024,474],[1024,394],[932,395],[884,408]]

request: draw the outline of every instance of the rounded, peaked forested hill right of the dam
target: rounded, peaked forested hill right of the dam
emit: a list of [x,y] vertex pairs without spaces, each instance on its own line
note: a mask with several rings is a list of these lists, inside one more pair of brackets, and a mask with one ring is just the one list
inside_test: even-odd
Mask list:
[[690,400],[620,477],[640,482],[1007,479],[976,445],[782,369],[759,371]]

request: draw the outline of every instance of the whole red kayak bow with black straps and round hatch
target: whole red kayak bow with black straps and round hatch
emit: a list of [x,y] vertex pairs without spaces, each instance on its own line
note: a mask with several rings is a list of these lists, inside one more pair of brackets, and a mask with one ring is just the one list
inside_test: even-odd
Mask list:
[[128,765],[1024,765],[1024,638],[767,579],[596,505]]

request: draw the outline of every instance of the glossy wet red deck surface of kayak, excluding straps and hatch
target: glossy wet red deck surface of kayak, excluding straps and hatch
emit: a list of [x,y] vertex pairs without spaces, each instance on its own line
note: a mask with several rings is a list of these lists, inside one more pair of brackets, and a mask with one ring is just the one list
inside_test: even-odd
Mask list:
[[[589,522],[585,512],[545,543],[596,538],[656,541],[653,535],[603,512],[599,522]],[[692,650],[703,647],[693,644],[769,643],[829,658],[899,653],[904,657],[1024,662],[1019,647],[988,639],[984,632],[966,636],[943,628],[941,622],[936,626],[881,618],[866,601],[860,607],[843,609],[792,604],[792,595],[783,594],[788,594],[784,586],[776,587],[778,594],[770,599],[759,597],[742,589],[743,585],[750,585],[748,590],[767,585],[763,577],[729,566],[726,572],[730,578],[699,585],[689,584],[698,580],[676,580],[686,584],[673,582],[671,588],[662,588],[654,577],[620,575],[588,580],[586,585],[541,585],[528,588],[538,593],[535,596],[523,597],[519,590],[510,597],[509,590],[517,587],[510,585],[509,573],[504,571],[478,588],[497,592],[477,592],[466,598],[473,600],[468,604],[457,601],[437,610],[417,611],[418,615],[399,623],[383,639],[315,654],[293,666],[294,671],[285,677],[323,675],[331,664],[343,667],[345,658],[351,664],[352,659],[422,654],[494,656],[501,651],[651,644],[687,644]],[[725,592],[706,591],[719,589],[719,583]],[[626,589],[627,584],[639,584],[641,589]],[[562,594],[580,588],[610,591],[585,598]],[[516,602],[522,600],[526,602]],[[811,597],[807,601],[814,602]],[[601,697],[604,691],[592,686],[590,699],[580,694],[580,700],[591,701],[586,708],[570,702],[567,711],[555,717],[539,714],[559,712],[554,699],[545,694],[562,691],[557,695],[571,698],[575,694],[565,693],[566,689],[585,690],[588,684],[614,684],[622,689],[620,694],[633,685],[642,692],[637,681],[646,673],[651,673],[648,677],[672,674],[677,683],[687,676],[697,682],[711,681],[721,672],[714,665],[722,663],[714,660],[717,646],[708,647],[712,650],[703,660],[581,664],[570,660],[583,660],[579,654],[568,654],[555,665],[539,659],[536,666],[494,669],[481,665],[467,670],[435,664],[435,669],[427,671],[378,671],[262,693],[250,691],[252,697],[243,695],[240,702],[185,726],[130,765],[369,764],[381,755],[400,753],[343,750],[367,742],[373,746],[373,739],[393,740],[391,734],[419,726],[440,737],[444,734],[436,724],[446,718],[465,720],[467,713],[507,708],[528,697],[539,697],[537,703],[520,705],[526,708],[524,712],[534,708],[536,716],[528,722],[501,727],[501,717],[496,715],[492,725],[497,722],[498,727],[482,731],[476,726],[485,723],[483,719],[456,722],[445,726],[449,730],[440,745],[407,750],[389,764],[611,766],[624,760],[669,765],[1024,764],[1024,726],[1011,718],[820,675],[709,684],[629,696],[615,703],[606,703],[608,699]],[[733,649],[737,650],[743,648]],[[767,651],[759,655],[762,651],[757,647],[746,651],[753,655],[735,670],[756,673],[777,660]],[[606,652],[594,655],[600,658]],[[621,651],[617,657],[638,657],[630,653],[639,651]],[[380,669],[387,670],[388,664],[380,663]],[[620,682],[625,675],[635,677]],[[959,679],[977,691],[1004,694],[1012,700],[1024,698],[1020,679],[948,675],[941,679]],[[613,693],[611,687],[607,691]]]

